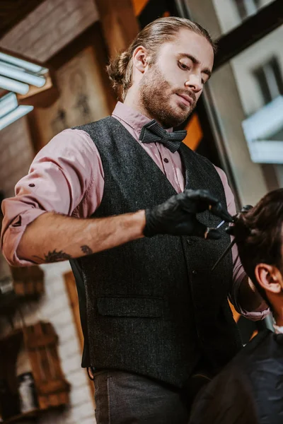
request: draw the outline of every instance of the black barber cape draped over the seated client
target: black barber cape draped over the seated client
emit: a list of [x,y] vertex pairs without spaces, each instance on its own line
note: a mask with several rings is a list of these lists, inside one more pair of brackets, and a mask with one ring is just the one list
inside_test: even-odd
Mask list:
[[255,336],[204,389],[190,424],[283,424],[283,334]]

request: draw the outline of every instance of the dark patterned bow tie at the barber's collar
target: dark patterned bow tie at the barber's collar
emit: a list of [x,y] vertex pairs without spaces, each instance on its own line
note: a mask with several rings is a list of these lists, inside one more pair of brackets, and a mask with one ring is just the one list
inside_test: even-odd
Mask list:
[[187,135],[187,131],[175,131],[173,133],[168,133],[165,129],[159,125],[155,119],[148,122],[141,129],[141,134],[139,140],[141,143],[163,143],[172,153],[178,151],[180,143]]

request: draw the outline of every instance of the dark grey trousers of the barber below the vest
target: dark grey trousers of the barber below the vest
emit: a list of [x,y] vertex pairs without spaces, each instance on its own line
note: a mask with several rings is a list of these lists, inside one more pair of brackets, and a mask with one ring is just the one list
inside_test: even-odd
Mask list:
[[97,424],[187,424],[192,404],[209,382],[195,374],[183,389],[117,370],[94,372]]

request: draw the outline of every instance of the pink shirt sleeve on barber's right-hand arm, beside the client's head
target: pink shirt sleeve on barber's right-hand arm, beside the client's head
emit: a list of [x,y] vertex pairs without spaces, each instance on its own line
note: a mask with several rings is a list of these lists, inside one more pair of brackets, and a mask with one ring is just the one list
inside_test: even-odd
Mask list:
[[[226,204],[227,209],[231,216],[236,215],[236,205],[234,201],[234,196],[229,187],[226,174],[219,167],[215,167],[216,171],[219,173],[219,177],[221,178],[224,192],[226,196]],[[233,240],[233,237],[231,237]],[[229,293],[229,300],[233,303],[236,311],[243,315],[244,317],[250,319],[251,321],[259,321],[260,319],[264,319],[270,314],[270,309],[267,307],[266,303],[262,301],[261,305],[255,311],[246,311],[244,310],[240,303],[238,302],[238,293],[240,285],[244,278],[246,278],[246,272],[243,269],[243,265],[241,264],[240,258],[238,256],[238,248],[236,245],[233,245],[232,248],[232,258],[233,258],[233,285],[231,288],[231,292]]]

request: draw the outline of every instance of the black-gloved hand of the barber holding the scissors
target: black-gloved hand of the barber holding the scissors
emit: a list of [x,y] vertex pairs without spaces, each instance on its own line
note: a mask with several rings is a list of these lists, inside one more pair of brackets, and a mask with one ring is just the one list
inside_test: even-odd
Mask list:
[[221,232],[214,228],[207,228],[196,218],[196,213],[206,210],[222,220],[232,221],[218,199],[207,190],[185,190],[154,209],[146,209],[144,235],[146,237],[157,234],[196,235],[218,240]]

